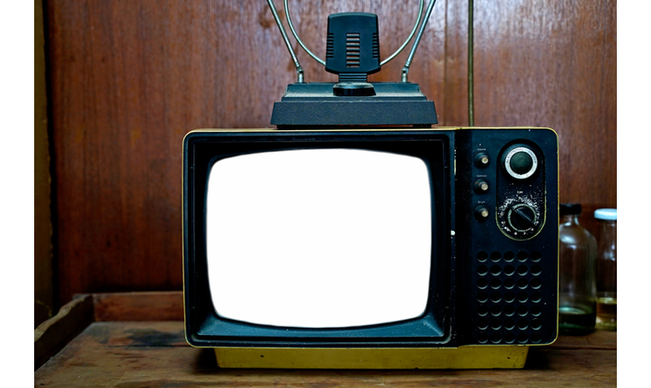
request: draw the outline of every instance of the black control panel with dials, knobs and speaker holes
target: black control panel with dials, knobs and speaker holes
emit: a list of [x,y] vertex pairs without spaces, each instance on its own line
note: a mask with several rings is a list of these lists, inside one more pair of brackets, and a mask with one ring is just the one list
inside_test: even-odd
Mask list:
[[[457,305],[462,342],[548,344],[557,337],[557,135],[468,128],[455,137]],[[468,240],[466,240],[468,239]],[[459,302],[459,301],[458,301]]]

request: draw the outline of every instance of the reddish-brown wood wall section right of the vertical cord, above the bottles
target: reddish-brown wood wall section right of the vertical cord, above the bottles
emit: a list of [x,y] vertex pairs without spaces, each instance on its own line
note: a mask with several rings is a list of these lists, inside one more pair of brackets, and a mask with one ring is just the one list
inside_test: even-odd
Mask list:
[[477,126],[554,128],[560,200],[617,207],[616,1],[476,2]]

